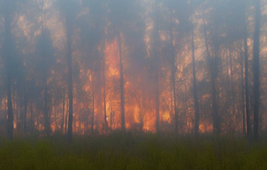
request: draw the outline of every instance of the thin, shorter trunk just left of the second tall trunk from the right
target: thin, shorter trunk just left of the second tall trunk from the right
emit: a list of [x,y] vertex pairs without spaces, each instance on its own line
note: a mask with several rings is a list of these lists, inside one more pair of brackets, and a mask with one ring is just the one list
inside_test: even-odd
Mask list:
[[242,118],[243,118],[243,134],[246,136],[246,116],[245,116],[245,91],[244,91],[244,60],[243,53],[240,52],[240,89],[241,89],[241,108],[242,108]]

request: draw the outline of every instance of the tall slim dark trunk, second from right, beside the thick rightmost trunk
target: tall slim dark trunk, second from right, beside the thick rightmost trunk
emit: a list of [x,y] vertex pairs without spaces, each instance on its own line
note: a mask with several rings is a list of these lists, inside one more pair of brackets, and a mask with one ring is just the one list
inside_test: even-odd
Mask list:
[[243,15],[244,15],[244,56],[245,56],[245,101],[246,101],[246,124],[247,136],[251,136],[250,113],[249,113],[249,92],[248,92],[248,38],[247,38],[247,24],[246,24],[246,1],[244,1]]

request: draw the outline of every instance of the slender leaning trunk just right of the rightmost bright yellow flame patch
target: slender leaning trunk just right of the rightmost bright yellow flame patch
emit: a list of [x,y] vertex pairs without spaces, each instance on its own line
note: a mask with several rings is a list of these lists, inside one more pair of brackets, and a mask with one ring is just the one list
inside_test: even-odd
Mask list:
[[174,123],[175,123],[175,134],[178,132],[178,110],[177,110],[177,101],[176,101],[176,93],[175,93],[175,51],[174,51],[174,46],[173,46],[173,33],[172,33],[172,14],[173,11],[171,9],[171,21],[170,21],[170,27],[169,27],[169,32],[170,32],[170,41],[171,41],[171,81],[172,81],[172,89],[173,89],[173,94],[174,94]]

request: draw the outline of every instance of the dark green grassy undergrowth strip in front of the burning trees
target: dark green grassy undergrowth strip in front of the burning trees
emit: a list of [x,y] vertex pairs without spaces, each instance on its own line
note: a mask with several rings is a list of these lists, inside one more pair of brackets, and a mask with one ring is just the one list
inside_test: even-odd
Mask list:
[[248,144],[245,138],[155,134],[0,137],[0,169],[266,169],[267,138]]

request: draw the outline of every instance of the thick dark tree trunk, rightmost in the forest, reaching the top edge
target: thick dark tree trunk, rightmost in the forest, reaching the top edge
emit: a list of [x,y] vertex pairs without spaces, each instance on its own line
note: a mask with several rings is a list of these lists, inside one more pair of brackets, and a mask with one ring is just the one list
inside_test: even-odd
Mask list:
[[253,84],[254,84],[254,139],[259,138],[259,39],[260,39],[260,0],[255,0],[255,32],[253,42]]

